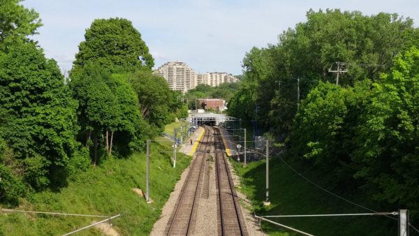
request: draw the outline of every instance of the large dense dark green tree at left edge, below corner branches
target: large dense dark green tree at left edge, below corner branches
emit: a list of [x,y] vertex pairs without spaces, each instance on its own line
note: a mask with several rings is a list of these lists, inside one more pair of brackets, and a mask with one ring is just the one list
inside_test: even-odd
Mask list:
[[66,165],[77,147],[77,102],[57,63],[45,59],[34,43],[15,43],[0,53],[0,107],[5,115],[0,134],[23,160],[27,179],[37,182],[38,177],[29,175],[32,164],[44,171],[39,176],[44,180],[32,186],[65,184]]

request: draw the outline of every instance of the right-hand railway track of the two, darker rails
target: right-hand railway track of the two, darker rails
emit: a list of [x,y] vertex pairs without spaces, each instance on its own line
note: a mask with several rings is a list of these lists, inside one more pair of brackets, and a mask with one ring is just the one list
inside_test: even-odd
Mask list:
[[214,136],[216,137],[214,153],[218,190],[218,235],[249,235],[242,219],[239,202],[236,199],[233,178],[225,159],[223,152],[225,147],[223,147],[219,129],[214,128]]

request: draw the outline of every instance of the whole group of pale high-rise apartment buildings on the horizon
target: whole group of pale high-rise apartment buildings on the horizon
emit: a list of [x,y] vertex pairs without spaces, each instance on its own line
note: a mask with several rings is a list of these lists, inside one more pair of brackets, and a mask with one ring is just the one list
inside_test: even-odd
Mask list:
[[180,90],[182,93],[195,88],[198,84],[208,84],[216,87],[225,82],[234,83],[239,81],[238,78],[229,73],[196,74],[191,67],[181,61],[170,61],[163,64],[154,73],[165,78],[170,89]]

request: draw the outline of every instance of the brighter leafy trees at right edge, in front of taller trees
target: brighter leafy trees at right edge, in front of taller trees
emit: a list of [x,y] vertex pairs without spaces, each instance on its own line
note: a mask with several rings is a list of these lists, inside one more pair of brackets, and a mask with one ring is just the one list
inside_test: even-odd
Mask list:
[[417,216],[418,63],[412,47],[380,82],[354,88],[320,82],[295,116],[291,152],[305,156],[330,186],[362,187]]

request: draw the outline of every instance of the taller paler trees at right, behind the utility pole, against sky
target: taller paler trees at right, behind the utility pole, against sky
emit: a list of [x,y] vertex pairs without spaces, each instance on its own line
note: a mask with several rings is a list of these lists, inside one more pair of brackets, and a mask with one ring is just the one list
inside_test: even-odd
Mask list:
[[244,80],[228,105],[230,115],[250,121],[258,106],[258,127],[284,136],[297,112],[297,99],[305,98],[319,80],[335,82],[336,73],[328,71],[337,70],[336,62],[346,63],[347,69],[339,84],[374,81],[418,38],[412,20],[396,14],[309,10],[307,22],[284,31],[279,43],[246,54]]

